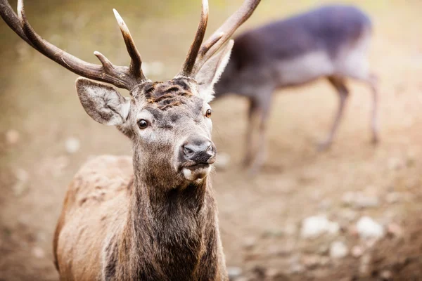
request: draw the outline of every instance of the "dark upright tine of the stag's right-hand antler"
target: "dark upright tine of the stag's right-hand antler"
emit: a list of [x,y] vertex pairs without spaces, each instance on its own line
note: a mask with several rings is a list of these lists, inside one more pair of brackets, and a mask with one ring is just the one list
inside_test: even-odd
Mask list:
[[179,75],[181,76],[191,76],[191,72],[195,65],[196,57],[198,56],[200,46],[205,36],[205,31],[207,30],[208,14],[208,0],[203,0],[202,13],[200,15],[200,21],[196,30],[195,39],[193,39],[191,48],[189,49],[188,54],[186,55],[186,60],[184,61],[184,64],[182,65],[181,70],[179,72]]

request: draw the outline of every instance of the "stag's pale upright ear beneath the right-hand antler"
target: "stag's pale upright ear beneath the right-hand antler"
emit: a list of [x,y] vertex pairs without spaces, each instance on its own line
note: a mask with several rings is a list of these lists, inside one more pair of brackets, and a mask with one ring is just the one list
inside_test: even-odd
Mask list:
[[224,49],[207,60],[203,67],[200,68],[198,74],[196,74],[195,79],[198,82],[199,96],[207,103],[214,98],[214,84],[217,83],[227,63],[229,63],[233,44],[234,41],[230,40]]

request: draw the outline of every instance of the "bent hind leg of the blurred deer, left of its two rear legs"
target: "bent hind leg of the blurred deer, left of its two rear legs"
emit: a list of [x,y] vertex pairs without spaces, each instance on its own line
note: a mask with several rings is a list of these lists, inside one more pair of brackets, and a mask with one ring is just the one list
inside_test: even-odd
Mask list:
[[334,117],[333,126],[331,126],[331,131],[328,133],[326,140],[319,144],[319,150],[326,150],[331,146],[331,143],[333,143],[333,138],[335,133],[337,133],[338,125],[340,125],[340,121],[343,117],[347,97],[349,96],[349,91],[347,90],[343,79],[339,79],[338,77],[328,77],[328,81],[330,81],[334,88],[337,90],[340,100],[337,113]]

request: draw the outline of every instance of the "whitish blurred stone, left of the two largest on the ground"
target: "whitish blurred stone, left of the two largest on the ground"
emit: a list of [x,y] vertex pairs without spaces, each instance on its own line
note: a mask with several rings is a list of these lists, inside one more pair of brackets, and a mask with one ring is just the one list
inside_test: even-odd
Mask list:
[[309,216],[302,221],[300,236],[302,238],[315,238],[324,233],[337,234],[340,230],[338,223],[328,221],[326,216]]

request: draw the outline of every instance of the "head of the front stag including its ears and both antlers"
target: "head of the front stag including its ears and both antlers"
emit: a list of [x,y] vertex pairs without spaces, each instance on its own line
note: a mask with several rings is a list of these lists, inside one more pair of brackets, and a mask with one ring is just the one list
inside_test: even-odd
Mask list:
[[[18,0],[18,15],[8,1],[0,0],[0,15],[27,44],[84,77],[76,81],[84,110],[96,122],[117,126],[132,140],[134,165],[139,174],[162,186],[175,187],[205,178],[215,162],[212,111],[208,105],[213,98],[212,86],[229,60],[233,46],[229,38],[259,2],[246,0],[203,43],[208,19],[208,3],[203,0],[200,23],[186,60],[179,74],[164,82],[152,82],[145,77],[141,55],[127,25],[115,10],[131,58],[129,67],[113,65],[97,51],[94,55],[101,65],[87,63],[41,39],[27,21],[23,0]],[[131,97],[125,98],[109,84],[129,90]]]

